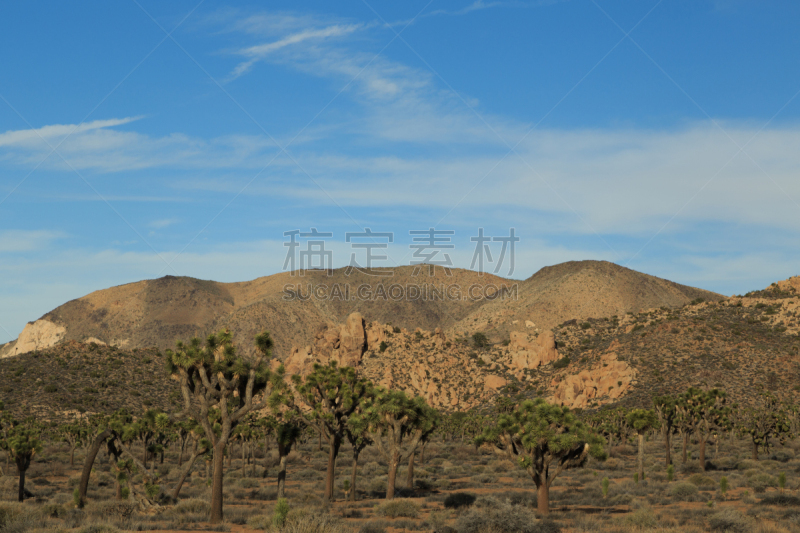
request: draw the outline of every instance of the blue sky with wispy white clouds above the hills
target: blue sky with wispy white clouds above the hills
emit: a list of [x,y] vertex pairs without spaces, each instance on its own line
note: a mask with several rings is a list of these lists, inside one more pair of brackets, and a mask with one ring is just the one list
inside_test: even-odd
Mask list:
[[[0,342],[93,290],[281,271],[283,232],[477,228],[513,276],[797,274],[789,1],[23,2],[0,16]],[[496,252],[495,252],[496,253]]]

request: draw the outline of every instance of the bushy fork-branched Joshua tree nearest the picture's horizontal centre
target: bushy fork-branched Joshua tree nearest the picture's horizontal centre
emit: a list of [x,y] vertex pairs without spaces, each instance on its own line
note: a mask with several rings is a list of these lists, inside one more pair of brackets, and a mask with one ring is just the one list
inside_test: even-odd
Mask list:
[[439,422],[439,413],[422,397],[410,398],[403,391],[378,389],[365,409],[368,432],[378,451],[389,463],[386,499],[394,498],[397,468],[417,451],[423,437]]

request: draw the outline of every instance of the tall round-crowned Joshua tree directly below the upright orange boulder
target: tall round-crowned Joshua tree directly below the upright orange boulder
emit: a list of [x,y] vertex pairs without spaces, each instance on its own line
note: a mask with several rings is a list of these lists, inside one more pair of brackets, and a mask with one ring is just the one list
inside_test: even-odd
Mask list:
[[347,419],[356,412],[359,403],[369,397],[372,384],[359,379],[351,367],[339,367],[336,361],[327,365],[314,364],[314,370],[303,380],[292,376],[297,391],[311,407],[309,424],[319,431],[328,443],[328,470],[325,480],[325,499],[333,500],[336,456],[345,438]]

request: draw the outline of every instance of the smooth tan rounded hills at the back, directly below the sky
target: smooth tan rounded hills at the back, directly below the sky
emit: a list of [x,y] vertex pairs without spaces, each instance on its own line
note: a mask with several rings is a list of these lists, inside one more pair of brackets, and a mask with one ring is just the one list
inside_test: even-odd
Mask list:
[[[307,271],[241,283],[167,276],[112,287],[30,323],[17,340],[0,346],[0,358],[69,340],[163,350],[177,339],[223,327],[234,332],[245,351],[257,333],[270,331],[278,357],[285,358],[292,346],[310,344],[320,324],[343,322],[355,311],[409,331],[439,328],[452,337],[485,331],[500,342],[514,330],[535,334],[573,318],[674,308],[698,297],[722,299],[600,261],[547,267],[523,281],[459,269],[452,276],[442,269],[415,276],[410,266],[394,269],[391,277],[376,273]],[[500,287],[507,289],[504,297],[492,298]]]

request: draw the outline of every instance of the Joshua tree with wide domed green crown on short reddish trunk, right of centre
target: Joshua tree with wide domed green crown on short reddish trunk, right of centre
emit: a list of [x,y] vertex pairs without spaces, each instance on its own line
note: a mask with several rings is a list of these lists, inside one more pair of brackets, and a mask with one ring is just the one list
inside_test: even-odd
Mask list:
[[539,512],[550,511],[550,485],[564,470],[583,466],[589,455],[605,459],[604,439],[578,420],[569,408],[551,405],[541,398],[524,401],[497,425],[477,438],[495,452],[518,463],[538,489]]

